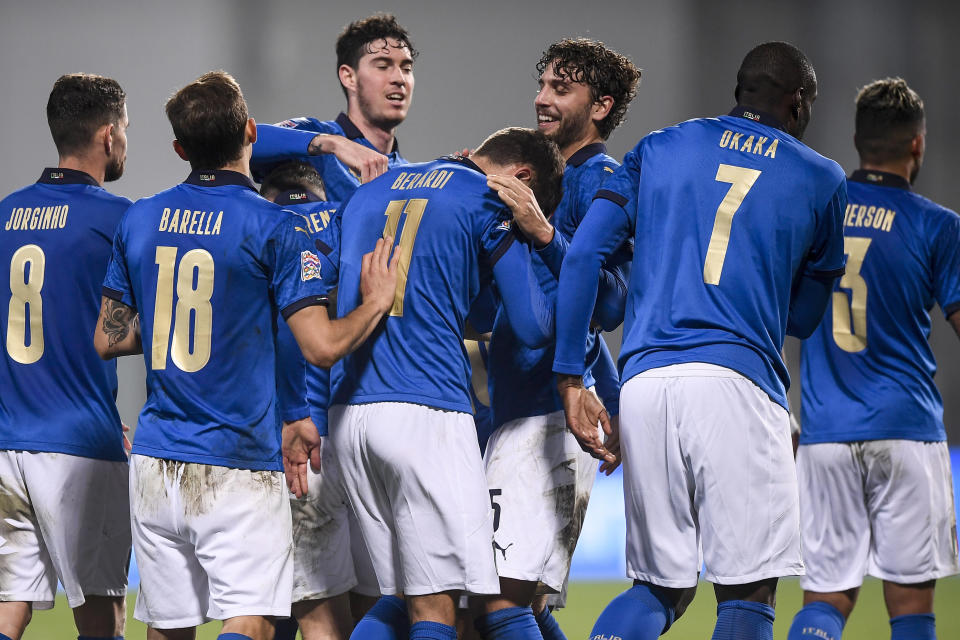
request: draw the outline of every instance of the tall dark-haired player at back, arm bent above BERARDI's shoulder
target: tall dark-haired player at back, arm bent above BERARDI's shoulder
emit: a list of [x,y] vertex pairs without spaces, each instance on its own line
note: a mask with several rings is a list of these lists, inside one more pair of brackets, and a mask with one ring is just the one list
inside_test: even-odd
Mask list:
[[347,111],[335,120],[294,118],[260,125],[255,173],[279,160],[308,160],[327,194],[343,202],[361,182],[406,164],[396,130],[413,98],[417,50],[396,18],[378,13],[351,22],[337,38],[337,75]]

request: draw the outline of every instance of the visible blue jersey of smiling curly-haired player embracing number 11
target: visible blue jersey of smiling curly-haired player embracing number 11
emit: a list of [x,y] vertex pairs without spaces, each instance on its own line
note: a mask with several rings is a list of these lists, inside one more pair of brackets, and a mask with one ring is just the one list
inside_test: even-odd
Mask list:
[[[587,145],[567,160],[563,174],[563,198],[554,212],[552,222],[565,242],[573,240],[574,232],[587,213],[594,194],[604,181],[613,175],[619,163],[606,155],[602,143]],[[557,276],[534,254],[534,270],[541,289],[553,301],[556,299]],[[605,266],[599,297],[601,305],[619,309],[623,318],[623,301],[626,296],[626,277],[623,267]],[[619,304],[609,302],[611,295],[619,298]],[[607,327],[612,329],[614,327]],[[595,382],[593,366],[603,356],[606,345],[599,329],[592,328],[587,335],[587,352],[584,361],[584,384]],[[607,354],[609,357],[609,354]],[[541,349],[525,347],[516,337],[505,316],[498,316],[490,342],[490,394],[493,406],[494,426],[530,416],[542,416],[563,409],[553,376],[554,345]],[[609,405],[611,414],[617,412],[618,403]]]

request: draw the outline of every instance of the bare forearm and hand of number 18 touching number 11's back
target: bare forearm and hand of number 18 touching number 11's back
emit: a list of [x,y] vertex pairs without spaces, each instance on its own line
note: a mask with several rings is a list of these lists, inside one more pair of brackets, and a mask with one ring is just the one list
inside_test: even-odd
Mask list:
[[363,344],[393,306],[400,252],[394,252],[391,258],[392,247],[392,237],[381,238],[376,248],[363,256],[360,271],[363,303],[345,317],[331,320],[325,308],[311,306],[287,318],[287,325],[307,362],[332,367]]

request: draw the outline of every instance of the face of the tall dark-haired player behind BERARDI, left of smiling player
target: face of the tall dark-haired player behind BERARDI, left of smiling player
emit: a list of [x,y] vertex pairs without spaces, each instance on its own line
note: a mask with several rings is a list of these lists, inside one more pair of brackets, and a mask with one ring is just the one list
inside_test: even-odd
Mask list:
[[407,117],[413,98],[410,49],[391,39],[374,40],[357,63],[357,103],[371,124],[390,130]]

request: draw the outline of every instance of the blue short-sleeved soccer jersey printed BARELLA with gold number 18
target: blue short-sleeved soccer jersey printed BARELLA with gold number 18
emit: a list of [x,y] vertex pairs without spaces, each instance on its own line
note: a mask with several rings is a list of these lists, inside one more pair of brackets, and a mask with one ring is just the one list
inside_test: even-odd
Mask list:
[[103,294],[140,314],[147,402],[133,453],[280,470],[277,311],[325,293],[303,218],[242,174],[194,171],[131,206]]

